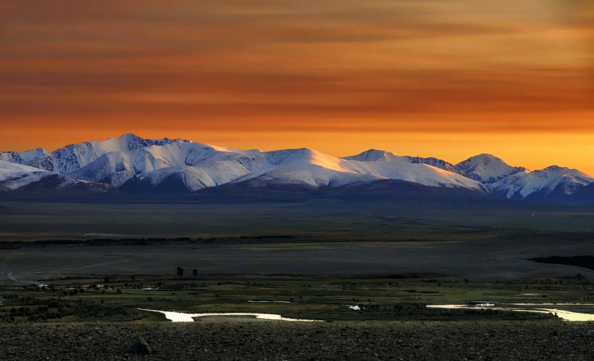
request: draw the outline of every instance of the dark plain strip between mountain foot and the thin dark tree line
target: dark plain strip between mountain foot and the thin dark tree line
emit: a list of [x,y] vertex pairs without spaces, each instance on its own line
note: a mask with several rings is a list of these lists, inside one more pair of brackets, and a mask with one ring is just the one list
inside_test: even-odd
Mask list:
[[469,205],[444,210],[336,200],[283,204],[4,201],[0,202],[0,241],[261,235],[324,240],[465,240],[540,232],[594,232],[594,211],[551,207],[527,203],[520,209]]

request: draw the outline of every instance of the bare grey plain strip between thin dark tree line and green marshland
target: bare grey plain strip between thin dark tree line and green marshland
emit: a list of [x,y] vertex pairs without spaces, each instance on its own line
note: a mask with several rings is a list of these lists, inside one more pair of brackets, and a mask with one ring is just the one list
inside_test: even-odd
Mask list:
[[[168,274],[178,266],[200,274],[438,273],[503,280],[532,274],[594,271],[527,258],[594,254],[589,235],[565,233],[475,240],[338,241],[216,239],[147,245],[4,245],[0,277],[68,274]],[[10,248],[7,248],[10,247]]]

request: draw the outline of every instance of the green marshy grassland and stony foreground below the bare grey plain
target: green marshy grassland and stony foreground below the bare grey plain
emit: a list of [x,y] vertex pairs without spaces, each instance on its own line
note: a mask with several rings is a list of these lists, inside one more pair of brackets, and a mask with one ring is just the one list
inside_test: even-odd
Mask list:
[[[154,351],[142,358],[146,360],[590,360],[594,356],[592,322],[563,322],[545,314],[424,308],[469,300],[591,302],[592,285],[583,278],[501,282],[436,274],[182,278],[72,276],[48,280],[52,286],[45,289],[3,282],[0,358],[121,360],[129,358],[124,355],[138,335]],[[50,308],[45,318],[34,316],[30,321],[27,314],[35,315],[39,306],[19,303],[31,299],[40,303],[59,299],[83,311],[53,318],[49,314],[59,308]],[[267,302],[249,302],[254,300]],[[353,311],[346,305],[365,310]],[[592,312],[591,306],[556,307]],[[26,308],[31,311],[22,310]],[[157,312],[113,311],[135,308],[277,313],[333,322],[219,317],[176,324]]]

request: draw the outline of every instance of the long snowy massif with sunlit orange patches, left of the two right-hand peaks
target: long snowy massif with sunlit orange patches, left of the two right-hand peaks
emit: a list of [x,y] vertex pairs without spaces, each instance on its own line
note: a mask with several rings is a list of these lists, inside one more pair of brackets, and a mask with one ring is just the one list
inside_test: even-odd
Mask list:
[[340,159],[305,148],[245,151],[187,140],[146,140],[134,134],[71,144],[51,153],[41,151],[21,156],[15,163],[116,188],[128,182],[126,189],[132,184],[159,188],[163,182],[167,188],[176,185],[188,191],[226,183],[318,188],[392,178],[487,192],[477,182],[450,172],[452,164],[435,158],[399,157],[369,150]]

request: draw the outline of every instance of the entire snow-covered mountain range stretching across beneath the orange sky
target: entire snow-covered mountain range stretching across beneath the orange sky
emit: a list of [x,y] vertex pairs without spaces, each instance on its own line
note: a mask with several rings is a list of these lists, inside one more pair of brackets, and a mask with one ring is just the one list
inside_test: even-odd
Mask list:
[[389,180],[511,200],[594,201],[594,178],[577,169],[550,166],[530,171],[491,154],[458,164],[381,150],[337,158],[308,148],[240,150],[134,134],[52,152],[37,148],[0,153],[0,192],[118,189],[128,194],[171,194],[217,186],[356,192]]

